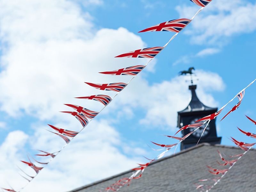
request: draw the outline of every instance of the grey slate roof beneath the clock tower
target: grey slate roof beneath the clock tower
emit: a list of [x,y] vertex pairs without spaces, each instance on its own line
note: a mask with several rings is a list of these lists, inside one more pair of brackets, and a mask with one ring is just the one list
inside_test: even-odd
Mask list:
[[[140,179],[133,180],[130,186],[121,188],[119,192],[199,192],[193,183],[198,183],[199,179],[214,177],[207,171],[206,165],[224,169],[224,166],[220,167],[216,163],[216,160],[221,162],[218,149],[227,156],[227,159],[230,155],[243,153],[236,147],[202,143],[150,164]],[[255,192],[255,157],[256,150],[251,149],[211,192]],[[132,171],[123,172],[70,192],[99,192],[115,181],[129,177],[131,173]],[[211,181],[211,184],[213,183],[214,181]]]

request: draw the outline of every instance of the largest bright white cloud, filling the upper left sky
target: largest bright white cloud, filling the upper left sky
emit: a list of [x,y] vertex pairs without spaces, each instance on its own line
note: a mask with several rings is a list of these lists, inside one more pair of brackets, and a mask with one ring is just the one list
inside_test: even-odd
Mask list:
[[[88,14],[71,2],[4,1],[1,9],[1,35],[9,46],[1,58],[0,88],[4,92],[0,102],[1,110],[11,116],[24,110],[39,119],[50,119],[61,108],[67,109],[63,102],[84,103],[71,98],[102,93],[84,81],[127,82],[129,77],[98,72],[133,65],[130,58],[120,63],[114,56],[146,46],[124,28],[101,29],[92,35]],[[145,64],[145,60],[137,63]],[[95,103],[88,102],[87,107],[92,106]]]

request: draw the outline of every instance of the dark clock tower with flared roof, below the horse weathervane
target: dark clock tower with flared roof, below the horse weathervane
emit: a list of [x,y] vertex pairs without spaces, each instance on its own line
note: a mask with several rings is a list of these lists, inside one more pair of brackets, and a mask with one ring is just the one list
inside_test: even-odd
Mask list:
[[[212,113],[217,112],[218,108],[211,108],[204,105],[196,96],[196,85],[190,85],[189,90],[191,91],[191,100],[184,110],[178,112],[178,128],[183,127],[184,125],[194,124],[198,119],[210,115]],[[199,143],[210,143],[210,144],[220,144],[221,137],[217,137],[216,132],[216,124],[215,120],[213,119],[207,128],[205,129],[204,134],[202,135],[201,140]],[[180,150],[190,148],[195,146],[201,137],[201,134],[205,128],[204,124],[200,127],[196,132],[190,135],[186,140],[181,142]],[[182,137],[187,135],[188,133],[192,132],[196,128],[188,128],[181,131]]]

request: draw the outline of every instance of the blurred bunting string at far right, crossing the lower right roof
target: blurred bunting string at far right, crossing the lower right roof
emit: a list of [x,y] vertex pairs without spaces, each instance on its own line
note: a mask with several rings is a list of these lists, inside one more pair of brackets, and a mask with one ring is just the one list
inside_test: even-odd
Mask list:
[[[253,124],[256,125],[256,121],[251,119],[250,117],[246,116]],[[243,134],[245,134],[248,137],[252,137],[254,139],[256,139],[256,134],[254,133],[250,133],[250,132],[246,132],[242,129],[240,129],[239,127],[237,127],[238,130],[240,132],[242,132]],[[210,179],[201,179],[199,180],[199,182],[203,182],[203,183],[209,183],[211,181],[214,181],[213,185],[208,185],[208,184],[197,184],[194,183],[196,185],[196,189],[200,190],[200,192],[209,192],[214,186],[216,186],[220,180],[227,174],[227,172],[232,169],[232,167],[236,164],[237,161],[239,161],[256,143],[244,143],[241,141],[238,141],[236,139],[234,139],[233,137],[231,137],[230,139],[232,142],[234,142],[239,148],[241,148],[244,153],[241,154],[237,154],[237,155],[232,155],[232,156],[228,156],[230,158],[230,160],[227,160],[223,157],[223,155],[221,154],[221,152],[219,150],[217,150],[217,153],[220,156],[220,159],[222,160],[222,163],[220,163],[219,161],[217,161],[217,163],[219,164],[219,166],[227,166],[229,165],[228,168],[226,169],[215,169],[212,168],[211,166],[207,166],[207,168],[209,169],[208,171],[213,174],[213,175],[221,175],[220,177],[213,177]],[[235,158],[235,159],[233,159]]]

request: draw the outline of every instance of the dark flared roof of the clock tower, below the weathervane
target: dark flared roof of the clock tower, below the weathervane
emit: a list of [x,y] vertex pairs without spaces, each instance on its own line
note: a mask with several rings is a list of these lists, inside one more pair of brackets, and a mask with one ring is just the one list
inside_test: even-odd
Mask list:
[[192,112],[192,111],[210,111],[210,110],[217,110],[217,108],[211,108],[204,103],[202,103],[197,95],[196,95],[196,85],[189,85],[189,90],[191,90],[191,100],[188,104],[188,107],[186,107],[184,110],[179,111],[178,113],[186,113],[186,112]]

